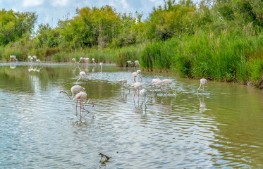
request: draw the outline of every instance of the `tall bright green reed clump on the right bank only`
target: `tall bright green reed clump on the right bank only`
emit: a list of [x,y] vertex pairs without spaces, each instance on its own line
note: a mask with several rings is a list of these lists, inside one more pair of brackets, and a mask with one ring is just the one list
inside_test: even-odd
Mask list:
[[145,46],[140,61],[147,70],[171,70],[182,77],[261,85],[263,35],[238,32],[173,37],[167,42]]

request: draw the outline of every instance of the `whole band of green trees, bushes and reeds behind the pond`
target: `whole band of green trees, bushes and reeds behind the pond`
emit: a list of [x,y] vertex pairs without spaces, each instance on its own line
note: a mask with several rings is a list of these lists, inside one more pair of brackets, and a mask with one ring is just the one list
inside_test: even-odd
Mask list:
[[183,77],[243,82],[263,87],[263,4],[258,0],[167,0],[142,13],[111,6],[77,8],[54,28],[36,13],[0,11],[0,58],[28,55],[66,62],[89,57],[126,66],[171,71]]

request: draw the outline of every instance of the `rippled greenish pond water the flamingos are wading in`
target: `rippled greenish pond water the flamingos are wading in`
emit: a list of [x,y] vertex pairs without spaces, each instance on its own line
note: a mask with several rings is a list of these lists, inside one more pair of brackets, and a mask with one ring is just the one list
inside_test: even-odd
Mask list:
[[[95,104],[80,122],[75,101],[59,93],[71,92],[78,67],[12,66],[0,64],[0,168],[263,168],[262,90],[209,81],[197,95],[199,80],[142,72],[141,108],[133,69],[80,65]],[[173,80],[176,95],[155,96],[156,76]],[[101,163],[99,153],[111,158]]]

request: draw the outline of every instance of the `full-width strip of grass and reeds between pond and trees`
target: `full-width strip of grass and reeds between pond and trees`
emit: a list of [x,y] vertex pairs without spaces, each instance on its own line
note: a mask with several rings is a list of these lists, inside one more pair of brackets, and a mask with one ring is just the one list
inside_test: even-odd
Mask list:
[[[27,42],[27,41],[25,41]],[[126,66],[127,61],[140,60],[141,68],[149,71],[171,71],[181,77],[252,82],[263,87],[263,34],[221,32],[219,35],[197,32],[195,35],[173,37],[166,42],[137,44],[117,49],[35,48],[34,43],[16,42],[1,47],[2,61],[16,55],[26,61],[36,55],[44,61],[71,62],[80,57],[97,62]]]

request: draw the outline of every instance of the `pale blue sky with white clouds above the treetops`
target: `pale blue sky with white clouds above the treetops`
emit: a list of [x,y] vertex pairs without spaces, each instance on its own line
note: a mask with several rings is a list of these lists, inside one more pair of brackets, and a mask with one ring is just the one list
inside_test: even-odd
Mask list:
[[72,18],[76,8],[85,6],[98,8],[111,5],[118,13],[135,13],[138,11],[146,18],[154,6],[163,6],[163,0],[0,0],[0,9],[6,11],[13,9],[18,12],[36,12],[38,15],[37,25],[49,23],[56,27],[59,20],[66,16]]

